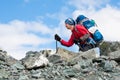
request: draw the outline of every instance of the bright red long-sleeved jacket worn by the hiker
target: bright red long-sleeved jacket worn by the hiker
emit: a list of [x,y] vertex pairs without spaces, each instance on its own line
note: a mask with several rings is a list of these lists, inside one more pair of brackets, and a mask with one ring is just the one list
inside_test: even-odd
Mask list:
[[[80,37],[84,36],[85,34],[88,34],[88,30],[82,26],[82,25],[76,25],[76,28],[72,30],[71,37],[68,41],[61,40],[61,44],[67,47],[70,47],[74,44],[74,39],[80,39]],[[80,44],[83,44],[84,42],[81,42]]]

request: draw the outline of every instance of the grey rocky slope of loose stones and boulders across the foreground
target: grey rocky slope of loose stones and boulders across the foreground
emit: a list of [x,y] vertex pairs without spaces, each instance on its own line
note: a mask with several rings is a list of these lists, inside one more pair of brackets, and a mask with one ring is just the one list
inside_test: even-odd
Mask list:
[[16,60],[0,50],[0,80],[119,80],[120,50],[108,56],[96,51],[74,53],[58,48],[29,51]]

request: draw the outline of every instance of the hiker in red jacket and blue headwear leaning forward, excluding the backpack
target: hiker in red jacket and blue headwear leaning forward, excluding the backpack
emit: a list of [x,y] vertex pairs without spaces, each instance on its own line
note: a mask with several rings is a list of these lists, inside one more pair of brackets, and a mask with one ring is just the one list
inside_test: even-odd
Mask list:
[[75,21],[72,18],[68,18],[65,20],[65,27],[72,32],[68,41],[61,39],[58,34],[55,34],[55,40],[62,45],[70,47],[75,43],[79,46],[79,51],[87,51],[95,47],[95,41],[84,26],[75,25]]

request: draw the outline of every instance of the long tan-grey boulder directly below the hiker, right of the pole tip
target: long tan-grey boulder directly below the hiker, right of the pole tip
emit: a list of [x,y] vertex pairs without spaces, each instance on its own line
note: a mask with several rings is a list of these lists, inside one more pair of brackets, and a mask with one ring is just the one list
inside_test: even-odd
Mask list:
[[69,51],[69,50],[66,50],[66,49],[63,49],[63,48],[58,48],[58,51],[56,54],[58,54],[59,56],[61,56],[61,58],[63,60],[66,60],[66,61],[71,61],[73,59],[82,59],[82,58],[86,58],[86,59],[93,59],[93,58],[96,58],[98,57],[98,51],[96,51],[97,48],[93,48],[93,49],[90,49],[88,51],[85,51],[85,52],[72,52],[72,51]]

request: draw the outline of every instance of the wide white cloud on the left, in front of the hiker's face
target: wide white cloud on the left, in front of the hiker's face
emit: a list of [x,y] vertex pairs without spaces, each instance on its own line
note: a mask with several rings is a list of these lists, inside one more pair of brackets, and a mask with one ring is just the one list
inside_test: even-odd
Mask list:
[[[20,59],[26,51],[37,50],[38,46],[53,42],[53,30],[37,21],[13,20],[7,24],[0,24],[0,47],[13,57]],[[44,35],[49,35],[49,37]]]

